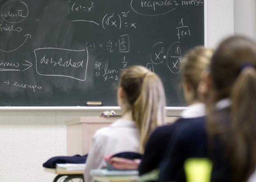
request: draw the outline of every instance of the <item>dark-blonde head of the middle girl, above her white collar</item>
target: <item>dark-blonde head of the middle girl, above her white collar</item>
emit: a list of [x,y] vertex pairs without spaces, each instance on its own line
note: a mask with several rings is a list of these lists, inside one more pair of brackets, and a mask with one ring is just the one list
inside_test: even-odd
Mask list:
[[204,47],[191,49],[183,58],[182,77],[184,97],[187,103],[202,102],[199,86],[202,74],[210,64],[213,51]]

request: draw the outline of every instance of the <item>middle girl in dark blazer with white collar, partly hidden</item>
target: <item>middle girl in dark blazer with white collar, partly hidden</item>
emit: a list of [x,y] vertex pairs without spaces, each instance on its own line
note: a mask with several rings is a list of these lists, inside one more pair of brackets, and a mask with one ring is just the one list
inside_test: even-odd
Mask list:
[[146,144],[142,162],[139,165],[139,173],[143,175],[156,169],[165,156],[167,145],[175,129],[190,119],[205,115],[205,105],[203,98],[199,93],[201,87],[201,77],[210,64],[210,58],[213,55],[211,49],[197,47],[190,50],[182,61],[182,76],[184,97],[189,104],[186,110],[181,113],[181,119],[174,124],[158,127],[150,136]]

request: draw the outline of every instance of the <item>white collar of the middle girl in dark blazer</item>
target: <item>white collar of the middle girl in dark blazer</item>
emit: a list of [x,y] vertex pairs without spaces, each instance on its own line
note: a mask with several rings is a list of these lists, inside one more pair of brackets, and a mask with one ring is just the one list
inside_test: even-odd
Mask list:
[[187,109],[181,112],[182,118],[195,118],[205,116],[205,104],[204,103],[194,103],[187,106]]

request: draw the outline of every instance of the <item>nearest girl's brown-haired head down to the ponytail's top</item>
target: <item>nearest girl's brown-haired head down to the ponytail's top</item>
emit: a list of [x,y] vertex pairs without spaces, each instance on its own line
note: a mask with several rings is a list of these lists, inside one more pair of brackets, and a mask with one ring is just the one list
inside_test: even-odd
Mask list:
[[215,100],[232,97],[238,92],[234,88],[239,85],[254,87],[255,82],[250,84],[247,81],[254,77],[255,67],[256,44],[253,41],[239,36],[224,40],[217,48],[210,64]]

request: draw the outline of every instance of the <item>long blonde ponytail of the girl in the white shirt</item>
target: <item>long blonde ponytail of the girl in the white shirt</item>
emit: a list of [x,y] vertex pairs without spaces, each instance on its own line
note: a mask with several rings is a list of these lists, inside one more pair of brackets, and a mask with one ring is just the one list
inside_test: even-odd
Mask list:
[[160,78],[153,72],[146,73],[139,97],[133,104],[133,118],[140,131],[140,152],[149,135],[157,127],[165,124],[165,91]]

